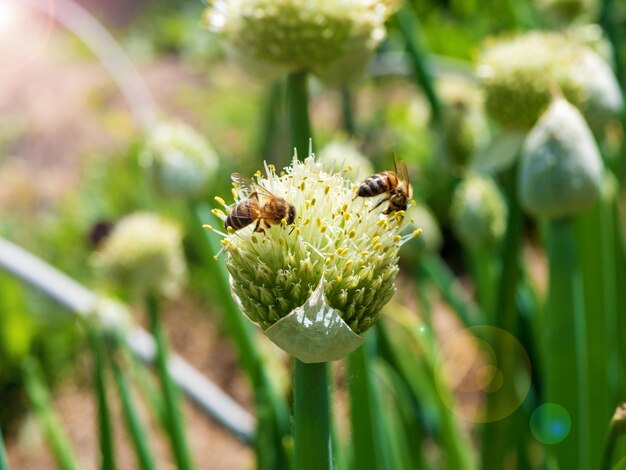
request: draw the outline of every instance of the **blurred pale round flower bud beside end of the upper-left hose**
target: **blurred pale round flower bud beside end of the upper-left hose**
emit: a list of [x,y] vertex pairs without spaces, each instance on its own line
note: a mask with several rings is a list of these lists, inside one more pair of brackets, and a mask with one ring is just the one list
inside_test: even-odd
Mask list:
[[151,129],[140,159],[168,195],[193,195],[206,188],[219,163],[209,143],[182,123],[161,123]]

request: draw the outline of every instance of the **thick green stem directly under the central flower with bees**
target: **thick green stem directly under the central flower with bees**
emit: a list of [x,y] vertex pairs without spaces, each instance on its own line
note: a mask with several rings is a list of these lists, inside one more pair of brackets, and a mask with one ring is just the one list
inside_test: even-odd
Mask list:
[[294,359],[293,437],[297,470],[333,468],[328,364]]

